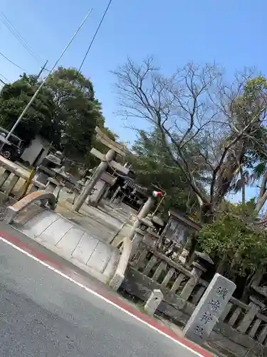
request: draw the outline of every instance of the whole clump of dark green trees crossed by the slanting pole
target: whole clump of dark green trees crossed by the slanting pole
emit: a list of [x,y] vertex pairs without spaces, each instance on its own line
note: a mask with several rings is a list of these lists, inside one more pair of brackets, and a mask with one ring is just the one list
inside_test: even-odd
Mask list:
[[[0,96],[0,125],[11,129],[40,83],[26,76],[4,86]],[[94,138],[95,126],[104,126],[101,104],[93,84],[76,69],[59,67],[48,79],[15,130],[29,144],[37,134],[53,142],[70,159],[83,161]]]

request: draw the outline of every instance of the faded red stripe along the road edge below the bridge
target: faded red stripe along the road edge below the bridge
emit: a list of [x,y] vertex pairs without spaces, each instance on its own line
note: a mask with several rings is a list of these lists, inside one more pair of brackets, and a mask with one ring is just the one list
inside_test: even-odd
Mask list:
[[48,264],[52,268],[54,268],[58,271],[61,271],[61,273],[65,274],[69,278],[72,278],[73,280],[78,281],[78,283],[80,283],[79,277],[81,277],[83,279],[82,283],[84,286],[95,291],[95,293],[98,293],[100,296],[103,296],[104,298],[108,299],[112,303],[115,303],[115,305],[119,306],[120,308],[123,308],[125,311],[131,313],[132,315],[136,316],[137,318],[140,318],[142,321],[145,321],[145,323],[153,326],[154,328],[157,328],[157,330],[162,331],[167,336],[173,338],[174,340],[178,341],[179,343],[182,343],[184,346],[187,346],[188,348],[191,348],[193,351],[200,353],[203,357],[214,357],[214,355],[212,355],[208,351],[204,350],[200,346],[195,345],[194,343],[188,341],[186,338],[180,338],[172,330],[170,330],[169,328],[162,326],[160,323],[158,323],[155,320],[155,318],[145,315],[145,313],[142,313],[141,311],[137,310],[133,306],[128,305],[127,303],[122,301],[119,297],[114,296],[112,293],[102,290],[96,286],[92,286],[92,284],[86,285],[86,281],[83,276],[79,276],[78,273],[76,273],[74,270],[71,270],[70,268],[64,266],[63,263],[60,263],[60,262],[56,261],[55,259],[49,258],[45,254],[43,254],[40,251],[36,250],[35,248],[31,247],[28,243],[25,243],[25,242],[21,241],[19,238],[16,238],[16,236],[12,236],[11,234],[6,233],[5,231],[0,231],[0,236],[2,238],[6,239],[6,241],[9,241],[10,243],[14,244],[14,246],[17,246],[18,248],[22,249],[23,251],[26,251],[27,253],[31,254],[35,258],[39,259],[40,261],[43,261],[44,263]]

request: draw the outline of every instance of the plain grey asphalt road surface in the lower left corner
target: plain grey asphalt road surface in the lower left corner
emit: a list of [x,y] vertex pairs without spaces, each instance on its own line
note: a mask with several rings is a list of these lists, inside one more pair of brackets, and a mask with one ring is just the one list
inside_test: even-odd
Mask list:
[[199,356],[0,241],[0,356]]

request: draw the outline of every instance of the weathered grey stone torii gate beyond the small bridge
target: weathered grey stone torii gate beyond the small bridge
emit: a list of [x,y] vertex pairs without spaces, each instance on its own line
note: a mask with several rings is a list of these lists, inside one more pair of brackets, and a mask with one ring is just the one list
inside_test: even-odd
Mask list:
[[[80,193],[80,196],[78,196],[77,200],[73,204],[73,211],[79,211],[80,207],[83,205],[85,202],[86,198],[90,195],[90,193],[93,191],[93,188],[95,187],[95,183],[100,180],[100,178],[103,177],[103,181],[106,181],[108,183],[115,183],[114,178],[106,178],[105,171],[108,169],[108,166],[111,166],[112,169],[115,169],[117,171],[120,171],[122,174],[127,175],[129,173],[129,169],[127,169],[125,166],[122,166],[119,164],[117,161],[115,161],[115,155],[119,154],[120,156],[126,156],[127,154],[130,154],[127,149],[125,149],[122,145],[117,144],[115,141],[111,140],[107,135],[103,133],[98,127],[95,128],[96,131],[96,139],[100,141],[100,143],[104,144],[105,146],[108,146],[110,149],[107,154],[102,154],[100,151],[96,149],[91,149],[90,154],[94,155],[98,159],[101,160],[99,166],[97,169],[95,169],[95,172],[90,178],[90,181],[86,183],[85,187],[83,188],[83,191]],[[104,175],[103,175],[104,174]],[[108,181],[107,181],[108,179]],[[112,181],[113,180],[113,181]]]

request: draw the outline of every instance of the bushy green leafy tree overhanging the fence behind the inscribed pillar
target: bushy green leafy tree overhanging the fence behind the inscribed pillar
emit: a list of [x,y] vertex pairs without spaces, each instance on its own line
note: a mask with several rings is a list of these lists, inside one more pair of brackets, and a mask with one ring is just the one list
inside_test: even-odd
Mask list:
[[253,201],[246,205],[228,203],[214,223],[199,231],[201,249],[219,258],[230,278],[251,275],[266,262],[267,233],[255,226],[253,216]]

